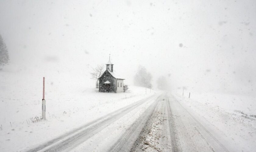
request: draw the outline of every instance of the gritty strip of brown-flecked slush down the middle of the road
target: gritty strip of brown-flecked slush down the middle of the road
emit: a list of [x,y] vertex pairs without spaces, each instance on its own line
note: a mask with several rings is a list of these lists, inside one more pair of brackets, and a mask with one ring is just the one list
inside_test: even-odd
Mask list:
[[130,151],[172,151],[166,99],[162,95]]

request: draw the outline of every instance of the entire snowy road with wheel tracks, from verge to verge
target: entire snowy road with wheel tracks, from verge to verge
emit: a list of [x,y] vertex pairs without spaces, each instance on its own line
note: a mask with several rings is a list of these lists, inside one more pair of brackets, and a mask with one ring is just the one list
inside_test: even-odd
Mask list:
[[171,94],[155,94],[28,151],[228,151]]

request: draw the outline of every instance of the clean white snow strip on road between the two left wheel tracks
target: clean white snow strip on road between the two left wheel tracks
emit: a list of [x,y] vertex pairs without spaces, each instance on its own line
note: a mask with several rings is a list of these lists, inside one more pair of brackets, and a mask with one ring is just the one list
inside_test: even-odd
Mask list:
[[[132,109],[129,113],[122,116],[121,119],[116,120],[103,130],[92,136],[89,140],[84,141],[79,146],[70,151],[111,151],[114,143],[118,142],[124,136],[127,130],[131,130],[131,126],[140,119],[144,112],[150,111],[150,106],[155,102],[158,95],[149,99],[142,105]],[[133,130],[136,132],[136,130]],[[131,141],[132,142],[132,141]]]

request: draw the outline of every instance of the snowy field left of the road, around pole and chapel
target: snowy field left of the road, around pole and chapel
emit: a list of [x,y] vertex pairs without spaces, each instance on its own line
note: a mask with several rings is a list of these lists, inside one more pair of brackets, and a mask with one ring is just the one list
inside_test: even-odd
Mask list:
[[145,95],[145,88],[132,86],[130,92],[99,93],[86,87],[79,76],[49,76],[45,95],[47,120],[32,123],[31,117],[41,116],[42,78],[36,76],[0,72],[1,151],[19,151],[44,143],[155,93],[148,91]]

